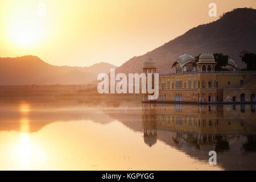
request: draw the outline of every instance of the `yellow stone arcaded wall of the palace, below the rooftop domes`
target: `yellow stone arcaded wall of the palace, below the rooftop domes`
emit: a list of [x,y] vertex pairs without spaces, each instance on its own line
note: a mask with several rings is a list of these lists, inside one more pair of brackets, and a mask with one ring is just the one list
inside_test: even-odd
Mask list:
[[[236,97],[236,101],[240,102],[240,96],[244,93],[246,101],[250,101],[251,94],[256,93],[256,79],[242,87],[241,80],[245,84],[255,75],[255,73],[197,73],[160,76],[159,100],[176,101],[176,96],[181,96],[182,101],[188,102],[233,102],[233,97]],[[191,80],[191,88],[189,88],[189,80]],[[196,88],[194,88],[194,80],[196,80]],[[170,81],[170,88],[168,88],[168,81]],[[182,88],[176,88],[176,81],[182,81]],[[205,88],[202,88],[203,81]],[[209,81],[212,83],[211,88],[209,88]]]

